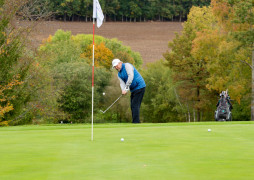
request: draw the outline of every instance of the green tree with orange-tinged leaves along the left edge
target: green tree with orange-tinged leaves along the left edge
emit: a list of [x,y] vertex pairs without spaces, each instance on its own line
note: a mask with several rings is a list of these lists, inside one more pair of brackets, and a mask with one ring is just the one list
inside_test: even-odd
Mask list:
[[25,49],[27,28],[18,28],[16,13],[26,1],[0,1],[0,123],[7,125],[27,102],[24,82],[31,59]]

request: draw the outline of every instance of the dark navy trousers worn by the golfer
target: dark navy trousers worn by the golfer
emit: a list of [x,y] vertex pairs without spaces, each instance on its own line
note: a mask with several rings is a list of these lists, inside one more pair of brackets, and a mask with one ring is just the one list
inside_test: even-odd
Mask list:
[[140,106],[145,94],[145,87],[131,93],[132,123],[140,123]]

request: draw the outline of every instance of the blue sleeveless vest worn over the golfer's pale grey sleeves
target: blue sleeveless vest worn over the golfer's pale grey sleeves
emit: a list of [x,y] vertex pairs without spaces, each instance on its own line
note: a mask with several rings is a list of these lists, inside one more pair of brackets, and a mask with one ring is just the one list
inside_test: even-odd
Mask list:
[[[143,79],[143,77],[139,74],[139,72],[137,71],[137,69],[133,66],[134,68],[134,77],[132,80],[132,83],[130,85],[130,91],[134,92],[138,89],[142,89],[144,87],[146,87],[146,83]],[[125,63],[122,64],[122,68],[121,70],[118,72],[118,77],[121,78],[125,83],[128,80],[128,75],[125,69]]]

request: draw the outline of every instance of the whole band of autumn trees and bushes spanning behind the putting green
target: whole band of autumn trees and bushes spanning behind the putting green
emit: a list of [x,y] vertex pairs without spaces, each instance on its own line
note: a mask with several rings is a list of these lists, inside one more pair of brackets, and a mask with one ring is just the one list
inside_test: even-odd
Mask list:
[[[16,15],[36,14],[26,7],[32,6],[0,0],[0,126],[90,122],[92,35],[58,30],[35,51],[28,41],[32,27],[15,23]],[[164,60],[146,69],[138,52],[117,39],[96,36],[95,122],[131,120],[128,97],[106,114],[99,111],[119,93],[113,58],[134,64],[146,81],[143,122],[214,120],[219,93],[226,89],[234,100],[233,120],[253,120],[252,9],[252,0],[192,7]]]

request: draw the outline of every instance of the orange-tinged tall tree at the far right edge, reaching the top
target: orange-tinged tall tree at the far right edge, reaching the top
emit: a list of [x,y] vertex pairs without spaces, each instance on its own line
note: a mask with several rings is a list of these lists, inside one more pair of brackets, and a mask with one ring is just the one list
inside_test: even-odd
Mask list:
[[[212,0],[213,13],[217,18],[227,41],[234,46],[232,62],[236,67],[244,64],[252,71],[251,120],[254,120],[254,12],[253,1]],[[236,69],[236,68],[235,68]],[[238,68],[239,69],[239,68]],[[248,72],[248,70],[242,72]],[[239,74],[240,71],[238,71]],[[242,73],[240,73],[242,74]],[[246,78],[245,78],[246,79]],[[246,79],[248,81],[248,79]],[[247,84],[247,83],[246,83]],[[237,89],[238,86],[235,88]],[[239,89],[239,88],[238,88]],[[243,90],[243,89],[242,89]],[[248,88],[239,94],[248,92]]]

